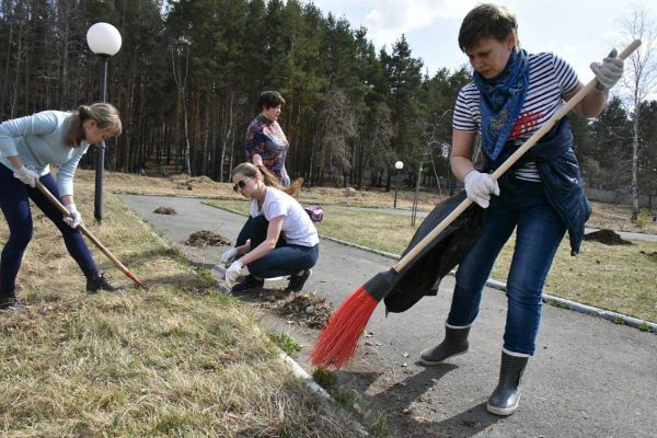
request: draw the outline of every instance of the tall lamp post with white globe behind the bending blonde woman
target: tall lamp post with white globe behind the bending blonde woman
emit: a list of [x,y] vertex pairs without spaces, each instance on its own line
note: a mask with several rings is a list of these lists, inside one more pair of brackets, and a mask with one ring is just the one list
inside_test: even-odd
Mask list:
[[[107,61],[120,50],[120,33],[108,23],[95,23],[87,31],[87,44],[101,58],[100,102],[105,102],[107,90]],[[105,142],[96,145],[95,197],[93,217],[103,220],[103,172],[105,169]]]

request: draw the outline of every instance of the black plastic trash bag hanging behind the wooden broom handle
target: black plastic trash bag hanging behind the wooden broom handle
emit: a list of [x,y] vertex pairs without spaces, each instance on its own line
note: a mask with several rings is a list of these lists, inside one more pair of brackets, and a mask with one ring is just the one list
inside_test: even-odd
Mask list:
[[[402,255],[411,251],[449,216],[464,199],[465,192],[438,204],[422,222]],[[472,204],[408,263],[385,299],[385,312],[400,313],[411,309],[425,296],[435,296],[442,277],[454,268],[476,243],[484,230],[486,209]]]

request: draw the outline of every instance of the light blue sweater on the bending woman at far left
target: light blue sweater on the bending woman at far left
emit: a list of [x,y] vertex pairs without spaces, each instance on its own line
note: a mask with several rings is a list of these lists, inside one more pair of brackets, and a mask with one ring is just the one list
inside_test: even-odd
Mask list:
[[50,172],[49,164],[59,165],[59,196],[72,196],[76,169],[89,149],[87,140],[77,148],[67,145],[72,117],[72,113],[44,111],[0,124],[0,163],[13,170],[7,158],[19,155],[39,176]]

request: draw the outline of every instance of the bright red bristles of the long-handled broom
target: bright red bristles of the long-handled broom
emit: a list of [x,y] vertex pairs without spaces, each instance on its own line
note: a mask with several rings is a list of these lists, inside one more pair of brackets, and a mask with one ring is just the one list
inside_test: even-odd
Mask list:
[[323,368],[341,368],[354,356],[358,339],[365,331],[377,301],[365,286],[360,286],[328,320],[318,336],[310,361]]

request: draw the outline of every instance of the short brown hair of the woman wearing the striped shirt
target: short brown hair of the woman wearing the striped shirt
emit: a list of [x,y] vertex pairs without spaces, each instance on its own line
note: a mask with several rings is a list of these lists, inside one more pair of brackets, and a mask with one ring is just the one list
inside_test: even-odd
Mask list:
[[459,47],[464,53],[480,38],[503,42],[510,34],[518,34],[518,21],[514,12],[494,3],[477,4],[461,23]]

